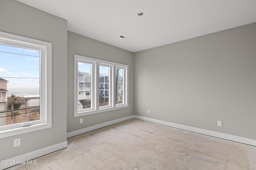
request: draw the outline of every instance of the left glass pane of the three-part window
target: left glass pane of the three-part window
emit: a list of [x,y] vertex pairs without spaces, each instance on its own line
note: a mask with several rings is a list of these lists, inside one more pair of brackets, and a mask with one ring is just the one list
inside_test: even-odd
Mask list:
[[78,110],[92,108],[91,70],[92,64],[78,62]]

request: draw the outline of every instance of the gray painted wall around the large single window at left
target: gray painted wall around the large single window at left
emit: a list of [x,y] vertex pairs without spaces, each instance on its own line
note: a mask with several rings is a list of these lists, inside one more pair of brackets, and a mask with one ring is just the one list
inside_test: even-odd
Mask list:
[[[67,21],[16,0],[0,0],[0,31],[52,43],[52,128],[0,139],[4,160],[66,141]],[[17,138],[21,146],[14,148]]]

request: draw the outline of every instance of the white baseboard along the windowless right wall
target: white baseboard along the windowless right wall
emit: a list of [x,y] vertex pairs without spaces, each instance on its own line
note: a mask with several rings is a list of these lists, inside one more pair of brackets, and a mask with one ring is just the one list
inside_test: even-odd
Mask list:
[[229,141],[234,141],[234,142],[244,143],[244,144],[247,144],[247,145],[256,146],[256,140],[254,140],[254,139],[239,137],[239,136],[235,136],[235,135],[229,135],[229,134],[226,134],[226,133],[220,133],[220,132],[215,132],[215,131],[209,131],[209,130],[200,129],[200,128],[196,128],[196,127],[191,127],[191,126],[186,126],[186,125],[180,125],[180,124],[177,124],[177,123],[172,123],[172,122],[168,122],[168,121],[161,121],[161,120],[152,119],[152,118],[143,117],[143,116],[138,116],[138,115],[134,115],[134,118],[144,120],[144,121],[149,121],[149,122],[152,122],[152,123],[157,123],[157,124],[160,124],[160,125],[175,127],[175,128],[186,130],[186,131],[196,132],[196,133],[200,133],[200,134],[203,134],[203,135],[218,137],[218,138],[226,139],[226,140],[229,140]]

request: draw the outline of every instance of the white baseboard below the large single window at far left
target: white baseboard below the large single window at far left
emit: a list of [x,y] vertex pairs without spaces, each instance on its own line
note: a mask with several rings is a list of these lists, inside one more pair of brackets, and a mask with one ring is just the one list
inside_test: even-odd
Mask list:
[[15,156],[13,158],[4,160],[6,162],[12,162],[14,164],[0,164],[0,169],[10,168],[11,166],[17,165],[18,162],[32,160],[34,158],[38,158],[40,156],[55,152],[60,149],[64,149],[66,147],[68,147],[68,141],[64,141],[62,143],[58,143],[49,147],[45,147],[45,148],[34,150],[32,152],[28,152],[19,156]]

